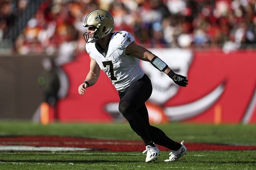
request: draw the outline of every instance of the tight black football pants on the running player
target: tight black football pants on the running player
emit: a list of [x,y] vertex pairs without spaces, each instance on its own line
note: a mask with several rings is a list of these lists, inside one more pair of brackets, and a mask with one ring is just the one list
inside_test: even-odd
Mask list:
[[162,130],[149,123],[145,102],[151,93],[152,84],[145,74],[125,91],[118,93],[120,96],[118,109],[129,122],[132,130],[142,138],[146,145],[152,141],[170,150],[178,150],[181,144],[171,140]]

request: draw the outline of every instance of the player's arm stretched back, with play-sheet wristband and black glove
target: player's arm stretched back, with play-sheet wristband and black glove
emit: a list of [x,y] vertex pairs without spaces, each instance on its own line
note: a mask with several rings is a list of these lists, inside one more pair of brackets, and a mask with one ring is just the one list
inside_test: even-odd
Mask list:
[[126,47],[126,55],[132,55],[138,59],[150,62],[159,71],[166,73],[179,86],[186,87],[188,85],[187,77],[174,73],[164,61],[135,42],[130,43]]

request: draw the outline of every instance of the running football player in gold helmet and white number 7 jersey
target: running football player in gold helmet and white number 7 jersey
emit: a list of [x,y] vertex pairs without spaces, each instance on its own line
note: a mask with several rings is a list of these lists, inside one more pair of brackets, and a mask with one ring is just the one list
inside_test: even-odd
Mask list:
[[109,12],[90,12],[83,26],[88,29],[84,33],[84,39],[86,51],[90,55],[90,71],[78,87],[78,93],[84,95],[86,89],[96,83],[102,69],[118,91],[120,113],[145,143],[146,150],[142,153],[147,152],[146,162],[158,158],[160,151],[155,144],[172,151],[165,162],[175,161],[186,154],[184,141],[181,144],[173,141],[162,130],[149,123],[145,102],[152,93],[152,85],[139,65],[140,59],[166,73],[177,85],[186,87],[187,78],[174,73],[164,61],[137,45],[129,32],[113,32],[114,18]]

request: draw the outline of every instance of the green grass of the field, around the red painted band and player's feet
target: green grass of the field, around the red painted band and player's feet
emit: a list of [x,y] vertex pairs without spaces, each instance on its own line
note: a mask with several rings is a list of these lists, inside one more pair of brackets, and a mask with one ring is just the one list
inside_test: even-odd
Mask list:
[[[255,125],[155,125],[173,140],[233,145],[256,145]],[[140,140],[127,123],[82,124],[0,122],[0,136],[75,136],[99,139]],[[161,152],[155,163],[146,163],[138,152],[0,152],[0,169],[256,169],[256,150],[188,151],[177,162]]]

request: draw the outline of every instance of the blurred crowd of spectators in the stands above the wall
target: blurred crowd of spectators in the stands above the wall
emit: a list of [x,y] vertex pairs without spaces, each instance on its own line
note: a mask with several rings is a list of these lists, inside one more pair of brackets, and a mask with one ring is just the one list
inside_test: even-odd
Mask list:
[[[30,0],[0,0],[0,40]],[[126,30],[145,47],[253,48],[256,0],[45,0],[16,40],[18,53],[85,50],[82,24],[108,10],[115,31]]]

